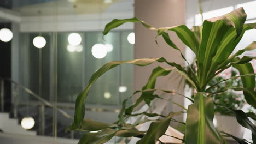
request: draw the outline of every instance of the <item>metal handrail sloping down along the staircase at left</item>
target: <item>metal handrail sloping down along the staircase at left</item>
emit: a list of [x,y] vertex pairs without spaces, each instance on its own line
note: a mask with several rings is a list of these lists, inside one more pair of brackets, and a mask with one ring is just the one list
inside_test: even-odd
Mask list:
[[[66,113],[65,111],[59,109],[56,105],[54,104],[51,104],[49,101],[41,98],[38,94],[36,94],[35,92],[31,91],[30,89],[20,85],[18,82],[14,81],[14,80],[11,80],[9,78],[2,78],[2,80],[6,80],[6,81],[9,81],[10,83],[13,83],[15,86],[18,86],[20,87],[21,89],[23,89],[25,92],[27,92],[28,94],[31,94],[34,98],[38,99],[39,101],[41,101],[44,105],[46,106],[49,106],[49,107],[52,107],[53,109],[56,109],[57,111],[59,111],[63,116],[67,117],[67,118],[72,118],[72,116],[68,115],[68,113]],[[1,82],[1,89],[3,90],[4,88],[2,88],[2,83]],[[2,92],[1,91],[1,103],[2,103],[2,99],[3,99],[3,95],[2,95]],[[1,104],[2,106],[2,104]]]

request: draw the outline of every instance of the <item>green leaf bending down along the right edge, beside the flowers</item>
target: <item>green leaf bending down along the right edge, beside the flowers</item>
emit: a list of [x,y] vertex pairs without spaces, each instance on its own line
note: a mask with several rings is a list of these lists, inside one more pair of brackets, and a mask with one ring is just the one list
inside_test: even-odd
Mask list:
[[[254,69],[251,63],[245,63],[245,64],[233,63],[232,66],[239,71],[240,75],[254,73]],[[254,91],[255,75],[243,76],[241,77],[241,79],[242,79],[243,87],[246,88],[245,90],[243,90],[243,94],[245,95],[245,99],[247,103],[256,108],[256,91]]]

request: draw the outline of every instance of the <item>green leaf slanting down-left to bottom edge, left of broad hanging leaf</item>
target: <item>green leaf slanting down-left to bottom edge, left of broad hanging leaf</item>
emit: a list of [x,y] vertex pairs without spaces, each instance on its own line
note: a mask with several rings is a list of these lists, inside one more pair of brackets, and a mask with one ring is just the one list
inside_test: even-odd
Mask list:
[[182,112],[170,113],[166,118],[160,121],[152,122],[146,135],[143,136],[142,139],[137,142],[137,144],[156,143],[156,141],[158,141],[158,139],[165,134],[165,131],[170,125],[171,118],[181,113]]

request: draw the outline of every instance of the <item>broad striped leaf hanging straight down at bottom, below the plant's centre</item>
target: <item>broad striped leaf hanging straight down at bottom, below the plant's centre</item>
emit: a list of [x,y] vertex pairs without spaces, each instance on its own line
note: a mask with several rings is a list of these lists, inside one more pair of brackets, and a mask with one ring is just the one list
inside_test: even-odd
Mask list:
[[195,103],[189,105],[186,120],[185,143],[223,143],[213,126],[213,100],[205,93],[195,93]]

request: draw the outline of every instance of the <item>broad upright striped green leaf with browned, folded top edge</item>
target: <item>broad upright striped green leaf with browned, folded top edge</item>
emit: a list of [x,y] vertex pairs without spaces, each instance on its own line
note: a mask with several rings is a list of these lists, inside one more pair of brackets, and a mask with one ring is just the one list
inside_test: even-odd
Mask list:
[[239,8],[203,22],[202,41],[197,55],[198,78],[202,89],[218,70],[218,66],[234,51],[245,31],[254,26],[244,26],[245,20],[246,13],[243,8]]

